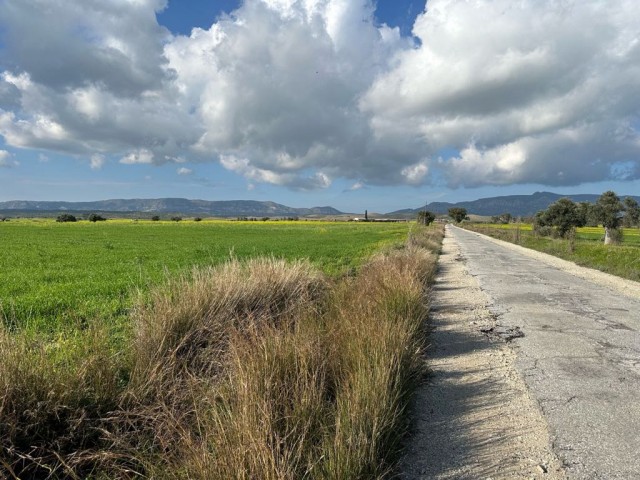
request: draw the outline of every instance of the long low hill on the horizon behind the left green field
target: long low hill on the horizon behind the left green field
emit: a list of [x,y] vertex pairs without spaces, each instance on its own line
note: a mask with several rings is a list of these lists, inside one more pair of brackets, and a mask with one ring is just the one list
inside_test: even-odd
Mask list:
[[100,200],[95,202],[0,202],[0,211],[12,212],[111,212],[158,213],[214,217],[303,217],[341,215],[333,207],[293,208],[274,202],[254,200],[207,201],[186,198]]

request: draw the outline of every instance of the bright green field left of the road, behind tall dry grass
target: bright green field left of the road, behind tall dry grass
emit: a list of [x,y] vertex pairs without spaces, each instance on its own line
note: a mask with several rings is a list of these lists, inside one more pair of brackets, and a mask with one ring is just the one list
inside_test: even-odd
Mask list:
[[308,258],[340,275],[410,224],[342,222],[0,223],[0,308],[6,324],[56,329],[122,319],[137,292],[230,256]]

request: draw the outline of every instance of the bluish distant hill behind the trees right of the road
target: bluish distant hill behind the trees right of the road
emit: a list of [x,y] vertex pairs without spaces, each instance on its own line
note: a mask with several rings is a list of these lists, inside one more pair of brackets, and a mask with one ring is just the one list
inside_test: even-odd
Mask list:
[[[560,198],[570,198],[574,202],[595,202],[600,195],[581,194],[581,195],[561,195],[551,192],[536,192],[532,195],[507,195],[503,197],[489,197],[473,200],[469,202],[447,203],[432,202],[427,205],[427,210],[446,214],[452,207],[465,208],[468,213],[473,215],[500,215],[501,213],[510,213],[514,216],[527,217],[535,215],[540,210],[545,210],[549,205]],[[624,195],[621,196],[624,198]],[[633,197],[640,202],[640,197]],[[415,209],[398,210],[387,214],[388,216],[412,216],[416,215],[420,210],[424,210],[424,206]]]

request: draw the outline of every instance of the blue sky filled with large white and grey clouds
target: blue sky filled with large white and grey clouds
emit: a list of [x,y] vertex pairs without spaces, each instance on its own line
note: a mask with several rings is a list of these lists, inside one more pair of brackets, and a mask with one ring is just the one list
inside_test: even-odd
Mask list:
[[640,193],[637,0],[0,0],[0,201]]

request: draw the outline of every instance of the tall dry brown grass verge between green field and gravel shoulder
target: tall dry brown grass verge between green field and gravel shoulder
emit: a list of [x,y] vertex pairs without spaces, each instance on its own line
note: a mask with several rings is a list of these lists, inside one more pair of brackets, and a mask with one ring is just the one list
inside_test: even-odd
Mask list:
[[98,319],[5,324],[0,476],[390,475],[441,239],[414,227],[331,276],[274,256],[199,266],[137,297],[118,339]]

